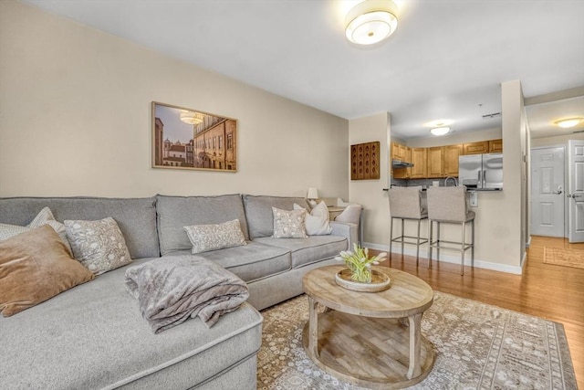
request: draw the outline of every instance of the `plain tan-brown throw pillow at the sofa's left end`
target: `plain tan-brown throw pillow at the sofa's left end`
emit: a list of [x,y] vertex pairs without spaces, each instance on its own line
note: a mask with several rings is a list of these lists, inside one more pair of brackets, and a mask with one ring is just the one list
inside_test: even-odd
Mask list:
[[36,227],[0,242],[0,311],[6,317],[93,278],[71,258],[53,227]]

